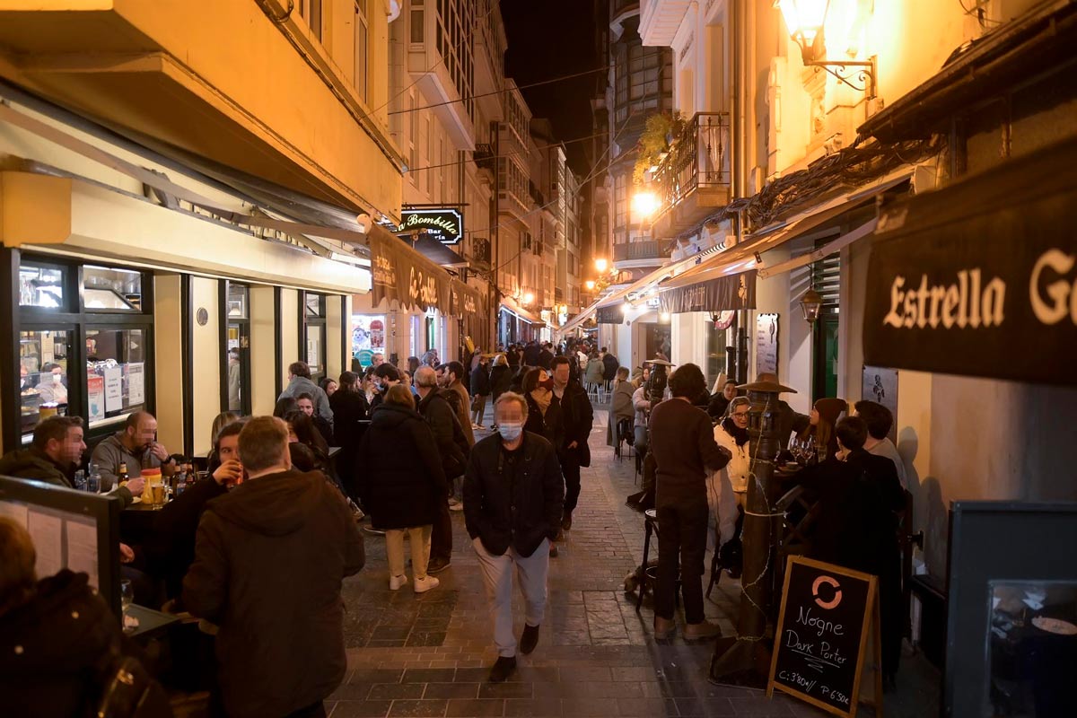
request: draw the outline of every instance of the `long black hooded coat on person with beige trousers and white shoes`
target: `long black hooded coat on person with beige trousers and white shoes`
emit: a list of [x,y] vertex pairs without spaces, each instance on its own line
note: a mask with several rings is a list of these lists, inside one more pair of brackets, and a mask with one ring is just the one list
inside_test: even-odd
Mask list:
[[[428,395],[430,398],[430,395]],[[382,404],[359,449],[363,505],[375,529],[434,523],[437,502],[449,493],[434,434],[415,409]]]

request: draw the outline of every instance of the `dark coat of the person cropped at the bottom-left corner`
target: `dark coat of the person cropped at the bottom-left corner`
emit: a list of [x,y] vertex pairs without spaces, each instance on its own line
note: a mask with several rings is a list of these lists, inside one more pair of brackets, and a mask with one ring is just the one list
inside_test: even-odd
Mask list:
[[[28,602],[0,616],[0,716],[92,715],[123,644],[86,574],[65,568],[42,579]],[[156,709],[171,715],[167,705]]]

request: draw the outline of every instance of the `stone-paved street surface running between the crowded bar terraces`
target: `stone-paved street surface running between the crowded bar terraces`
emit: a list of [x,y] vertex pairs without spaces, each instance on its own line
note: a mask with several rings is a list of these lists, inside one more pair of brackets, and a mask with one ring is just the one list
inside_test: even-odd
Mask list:
[[[592,465],[583,469],[573,529],[550,560],[538,648],[518,657],[516,674],[500,685],[486,680],[496,659],[493,629],[463,516],[453,512],[452,565],[421,596],[410,585],[389,590],[384,539],[365,534],[366,567],[345,582],[349,671],[326,703],[332,718],[823,715],[782,695],[711,685],[713,642],[654,640],[649,600],[637,614],[623,589],[642,559],[643,521],[625,506],[637,490],[634,461],[618,461],[605,446],[605,412],[597,405]],[[726,577],[704,602],[725,635],[733,633],[738,596]],[[522,615],[514,589],[517,635]],[[937,703],[926,690],[887,695],[887,716],[931,715]]]

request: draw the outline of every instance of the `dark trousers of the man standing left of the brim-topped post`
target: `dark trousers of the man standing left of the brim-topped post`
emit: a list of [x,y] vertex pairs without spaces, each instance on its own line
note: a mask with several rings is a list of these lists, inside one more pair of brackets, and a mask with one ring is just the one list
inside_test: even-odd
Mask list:
[[659,495],[656,509],[658,585],[655,587],[655,616],[673,620],[676,577],[680,571],[684,620],[686,623],[701,623],[703,554],[707,551],[707,497],[662,499]]

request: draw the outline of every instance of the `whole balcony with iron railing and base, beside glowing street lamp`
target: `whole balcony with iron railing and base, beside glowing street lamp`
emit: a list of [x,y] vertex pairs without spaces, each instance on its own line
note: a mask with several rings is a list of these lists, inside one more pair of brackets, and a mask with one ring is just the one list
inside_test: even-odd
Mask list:
[[672,237],[729,203],[729,150],[727,113],[699,112],[685,125],[654,173],[656,236]]

